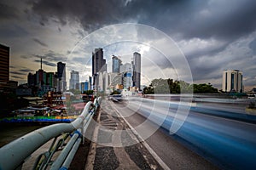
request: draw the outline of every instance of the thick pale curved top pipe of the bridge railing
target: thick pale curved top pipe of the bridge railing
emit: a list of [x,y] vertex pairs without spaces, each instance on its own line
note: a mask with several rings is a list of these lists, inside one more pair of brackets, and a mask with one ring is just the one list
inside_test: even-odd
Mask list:
[[[101,98],[94,100],[94,104],[96,104],[94,106],[97,107],[98,103],[101,103]],[[82,127],[84,118],[89,115],[91,105],[93,105],[92,102],[88,102],[81,115],[71,123],[57,123],[42,127],[4,145],[0,148],[0,170],[20,167],[28,156],[31,156],[35,150],[38,150],[49,139],[53,139],[61,135],[61,133],[72,133],[74,130]],[[88,120],[86,122],[89,123]]]

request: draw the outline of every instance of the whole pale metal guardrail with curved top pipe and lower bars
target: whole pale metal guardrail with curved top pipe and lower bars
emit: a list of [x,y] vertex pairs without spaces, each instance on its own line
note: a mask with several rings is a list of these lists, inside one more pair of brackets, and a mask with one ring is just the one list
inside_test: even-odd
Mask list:
[[[0,170],[21,169],[26,159],[32,155],[35,150],[54,139],[49,150],[38,156],[33,169],[67,169],[73,160],[73,156],[79,148],[84,134],[89,127],[92,116],[96,113],[97,107],[101,104],[101,98],[88,102],[81,115],[70,123],[57,123],[47,127],[39,128],[32,133],[28,133],[15,141],[0,148]],[[65,134],[64,134],[65,133]],[[62,138],[56,140],[62,135]],[[51,161],[56,150],[63,147],[68,136],[72,135],[65,148],[55,161]],[[56,143],[56,144],[55,144]]]

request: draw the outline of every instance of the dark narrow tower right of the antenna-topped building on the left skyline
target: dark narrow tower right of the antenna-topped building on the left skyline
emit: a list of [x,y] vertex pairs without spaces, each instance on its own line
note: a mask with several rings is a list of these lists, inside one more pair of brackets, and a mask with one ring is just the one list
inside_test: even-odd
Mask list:
[[67,89],[66,82],[66,64],[62,62],[57,63],[57,77],[59,79],[58,91],[63,92]]

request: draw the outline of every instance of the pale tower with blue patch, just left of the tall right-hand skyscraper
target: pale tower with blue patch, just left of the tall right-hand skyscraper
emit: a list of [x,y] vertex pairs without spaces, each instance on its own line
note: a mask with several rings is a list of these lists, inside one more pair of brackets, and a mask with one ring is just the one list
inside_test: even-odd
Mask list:
[[121,65],[120,72],[123,76],[123,85],[124,88],[129,89],[133,86],[132,76],[133,76],[133,65],[130,63],[125,63]]

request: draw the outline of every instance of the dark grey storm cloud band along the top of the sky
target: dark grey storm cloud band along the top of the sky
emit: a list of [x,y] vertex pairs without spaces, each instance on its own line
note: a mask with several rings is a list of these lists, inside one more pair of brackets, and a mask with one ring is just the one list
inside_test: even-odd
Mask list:
[[[127,3],[128,2],[128,3]],[[234,39],[256,27],[256,1],[165,1],[165,0],[39,0],[35,13],[47,23],[56,17],[61,25],[77,20],[85,31],[120,22],[138,21],[185,38]]]

